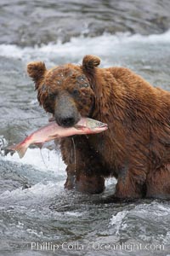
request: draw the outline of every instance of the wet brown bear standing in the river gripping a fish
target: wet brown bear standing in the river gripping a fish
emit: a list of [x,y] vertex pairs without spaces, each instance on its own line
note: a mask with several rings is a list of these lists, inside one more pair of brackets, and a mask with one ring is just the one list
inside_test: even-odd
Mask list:
[[116,198],[170,197],[170,92],[151,86],[125,67],[99,68],[99,57],[49,70],[27,66],[37,99],[59,125],[81,116],[109,125],[103,133],[65,137],[65,188],[101,193],[116,177]]

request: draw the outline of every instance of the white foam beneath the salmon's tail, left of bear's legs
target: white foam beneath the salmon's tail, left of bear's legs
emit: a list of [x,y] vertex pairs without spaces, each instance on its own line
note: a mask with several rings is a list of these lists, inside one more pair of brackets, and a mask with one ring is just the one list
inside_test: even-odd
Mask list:
[[[23,166],[23,168],[28,166],[28,173],[23,173],[23,175],[27,175],[27,177],[33,175],[32,179],[37,177],[37,175],[39,177],[39,182],[32,184],[31,188],[23,190],[21,186],[12,191],[3,191],[0,195],[1,201],[18,201],[19,199],[36,201],[36,198],[44,201],[48,198],[53,198],[55,195],[59,195],[64,189],[66,175],[65,164],[59,152],[55,150],[42,148],[40,151],[39,148],[28,148],[25,157],[22,159],[19,158],[17,153],[14,153],[13,155],[7,154],[6,156],[0,156],[0,160],[17,163],[18,167],[15,167],[15,169],[20,169],[20,166]],[[30,173],[29,166],[31,166]],[[17,169],[14,172],[17,172]],[[22,172],[19,173],[22,175]],[[49,176],[50,173],[51,175]]]

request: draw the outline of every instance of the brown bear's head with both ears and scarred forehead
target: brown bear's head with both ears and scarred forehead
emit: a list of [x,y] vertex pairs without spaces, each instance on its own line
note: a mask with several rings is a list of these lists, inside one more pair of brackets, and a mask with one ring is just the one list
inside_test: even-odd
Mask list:
[[58,125],[71,127],[94,108],[94,74],[99,57],[86,55],[82,65],[65,64],[47,70],[41,61],[31,62],[27,72],[35,83],[41,106],[53,113]]

